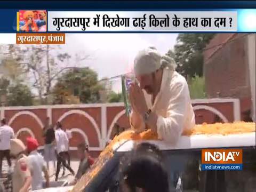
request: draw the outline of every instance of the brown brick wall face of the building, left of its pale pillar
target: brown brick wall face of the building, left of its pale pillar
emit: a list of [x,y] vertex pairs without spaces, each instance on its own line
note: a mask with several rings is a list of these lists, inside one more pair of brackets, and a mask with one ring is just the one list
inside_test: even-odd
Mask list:
[[[222,36],[218,34],[208,45],[214,46],[214,42],[220,39],[225,43]],[[247,57],[247,36],[237,34],[228,38],[229,42],[223,44],[217,51],[210,50],[205,53],[204,76],[206,92],[210,98],[231,97],[250,98],[250,76]],[[232,39],[232,40],[231,40]],[[231,41],[230,41],[231,40]],[[206,47],[207,49],[207,47]],[[210,55],[210,57],[209,57]]]

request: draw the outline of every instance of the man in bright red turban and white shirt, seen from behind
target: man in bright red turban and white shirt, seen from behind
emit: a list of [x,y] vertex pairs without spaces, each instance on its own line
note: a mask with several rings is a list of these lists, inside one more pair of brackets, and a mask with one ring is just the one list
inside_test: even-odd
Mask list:
[[27,137],[27,151],[28,155],[28,165],[31,172],[32,177],[32,190],[43,189],[43,177],[42,172],[44,172],[45,177],[45,187],[49,187],[49,174],[46,168],[46,163],[44,161],[44,157],[38,153],[38,142],[33,137]]

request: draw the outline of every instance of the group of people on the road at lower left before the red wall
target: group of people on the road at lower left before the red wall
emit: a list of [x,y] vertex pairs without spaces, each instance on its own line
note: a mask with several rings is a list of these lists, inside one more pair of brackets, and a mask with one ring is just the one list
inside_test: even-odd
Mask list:
[[[94,159],[90,156],[89,146],[87,143],[79,143],[77,146],[77,156],[80,163],[78,171],[75,174],[75,171],[70,166],[69,154],[69,140],[72,135],[70,131],[62,127],[60,122],[57,122],[55,126],[52,126],[49,123],[49,117],[47,117],[42,136],[45,141],[43,155],[38,151],[39,144],[37,139],[27,137],[26,143],[23,143],[20,139],[15,138],[14,131],[12,127],[7,125],[6,120],[1,120],[0,175],[3,176],[2,162],[3,159],[6,158],[9,165],[9,171],[7,174],[12,175],[13,192],[25,192],[50,187],[50,162],[53,163],[54,170],[56,171],[55,181],[58,181],[59,179],[61,167],[63,167],[62,176],[65,175],[65,168],[74,176],[74,180],[70,181],[68,185],[75,185],[75,183],[94,163]],[[13,170],[11,168],[11,156],[15,158]],[[56,159],[57,169],[55,169]]]

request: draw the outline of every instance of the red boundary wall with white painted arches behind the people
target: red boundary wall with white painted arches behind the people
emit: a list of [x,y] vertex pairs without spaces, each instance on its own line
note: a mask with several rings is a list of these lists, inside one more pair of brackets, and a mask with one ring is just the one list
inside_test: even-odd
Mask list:
[[[193,100],[193,107],[197,124],[214,123],[217,116],[220,122],[234,122],[241,118],[237,99]],[[130,127],[123,103],[2,107],[0,117],[7,119],[17,138],[26,141],[26,137],[31,135],[41,147],[44,145],[42,133],[45,119],[50,117],[52,124],[59,121],[73,133],[71,150],[76,150],[78,143],[85,141],[95,156],[115,134],[115,123],[124,129]]]

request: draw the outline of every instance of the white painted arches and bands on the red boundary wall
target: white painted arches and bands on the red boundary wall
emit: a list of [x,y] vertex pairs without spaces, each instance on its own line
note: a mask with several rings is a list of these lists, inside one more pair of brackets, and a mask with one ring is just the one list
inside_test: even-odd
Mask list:
[[[217,109],[213,107],[206,106],[207,103],[223,103],[223,102],[232,102],[234,105],[234,119],[235,121],[241,120],[241,113],[240,113],[240,102],[239,99],[233,99],[233,98],[213,98],[213,99],[195,99],[191,101],[192,103],[198,103],[201,105],[195,106],[194,109],[205,109],[210,110],[214,114],[220,116],[220,118],[224,122],[228,122],[227,118]],[[205,103],[205,105],[202,104]],[[1,118],[4,118],[4,112],[5,110],[25,110],[20,111],[17,114],[15,114],[9,121],[9,124],[12,124],[15,118],[17,118],[20,115],[26,114],[30,115],[33,118],[36,119],[38,124],[43,128],[42,121],[31,111],[26,111],[28,109],[46,109],[47,116],[50,117],[50,122],[52,122],[52,109],[62,109],[62,108],[77,108],[74,110],[70,110],[67,113],[63,114],[58,121],[62,121],[65,117],[67,117],[70,114],[81,114],[89,119],[89,121],[93,124],[95,131],[97,132],[97,137],[99,140],[99,147],[90,148],[90,150],[102,150],[105,147],[105,143],[107,140],[109,140],[111,132],[113,131],[114,124],[118,121],[118,119],[125,114],[125,110],[118,113],[114,119],[113,122],[111,122],[109,130],[107,131],[107,107],[124,107],[124,103],[95,103],[95,104],[81,104],[81,105],[54,105],[54,106],[21,106],[21,107],[2,107],[1,110]],[[79,108],[101,108],[101,129],[99,129],[98,124],[94,121],[93,117],[91,117],[89,114],[85,113],[84,111],[80,110]],[[23,131],[28,131],[27,127],[24,127]],[[76,128],[74,128],[76,129]],[[81,130],[82,131],[82,130]],[[77,132],[77,130],[76,130]],[[83,131],[82,131],[83,132]],[[20,132],[19,132],[20,133]],[[32,132],[33,133],[33,132]],[[84,132],[83,132],[84,133]],[[81,133],[81,134],[83,134]],[[85,134],[85,133],[84,133]],[[86,134],[85,134],[86,136]],[[83,135],[84,137],[84,135]],[[87,136],[86,136],[87,137]],[[86,141],[87,142],[87,141]],[[74,147],[74,150],[76,150],[76,147]]]

